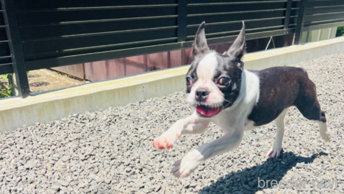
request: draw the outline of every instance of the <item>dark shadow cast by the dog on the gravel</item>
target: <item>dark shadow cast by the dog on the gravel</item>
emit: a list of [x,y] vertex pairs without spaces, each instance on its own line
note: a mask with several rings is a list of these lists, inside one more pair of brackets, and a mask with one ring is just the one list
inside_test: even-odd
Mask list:
[[[262,165],[245,168],[242,172],[231,172],[224,177],[220,177],[216,182],[199,191],[199,194],[206,193],[256,193],[259,190],[266,188],[273,188],[271,181],[275,180],[280,183],[283,176],[287,174],[292,167],[301,168],[298,163],[311,163],[315,158],[321,155],[328,155],[327,153],[315,153],[312,156],[305,158],[294,155],[292,152],[285,152],[280,155],[280,158],[269,158]],[[258,186],[258,179],[260,184]],[[287,178],[288,181],[292,178]],[[270,180],[268,183],[267,180]],[[294,179],[294,183],[295,183]],[[291,182],[291,181],[290,181]],[[263,185],[264,184],[264,185]],[[291,184],[290,184],[291,185]]]

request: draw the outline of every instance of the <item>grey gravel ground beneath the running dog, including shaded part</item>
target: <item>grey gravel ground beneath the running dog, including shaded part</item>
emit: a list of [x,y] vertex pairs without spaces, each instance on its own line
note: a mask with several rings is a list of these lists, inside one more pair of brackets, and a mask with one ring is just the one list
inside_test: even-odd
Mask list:
[[[284,151],[277,160],[264,158],[275,139],[271,123],[246,132],[236,150],[206,161],[187,178],[176,179],[170,174],[175,160],[222,135],[210,125],[205,134],[183,136],[169,151],[152,148],[155,137],[192,113],[185,92],[177,92],[0,134],[0,192],[344,193],[343,65],[344,55],[339,53],[295,65],[305,68],[317,85],[332,132],[327,144],[316,123],[290,109]],[[260,188],[258,179],[294,179],[294,188],[272,188],[271,183]],[[296,179],[335,182],[332,188],[329,182],[321,185],[325,188],[317,183],[296,188]]]

